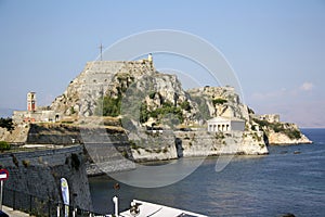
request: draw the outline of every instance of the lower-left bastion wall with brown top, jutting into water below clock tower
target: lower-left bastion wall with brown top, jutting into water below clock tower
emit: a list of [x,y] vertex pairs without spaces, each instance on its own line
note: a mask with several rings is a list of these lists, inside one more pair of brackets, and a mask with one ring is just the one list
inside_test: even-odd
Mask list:
[[[134,168],[128,136],[119,130],[68,125],[30,125],[28,144],[73,145],[83,143],[88,155],[88,175],[116,173]],[[98,165],[95,165],[98,164]]]

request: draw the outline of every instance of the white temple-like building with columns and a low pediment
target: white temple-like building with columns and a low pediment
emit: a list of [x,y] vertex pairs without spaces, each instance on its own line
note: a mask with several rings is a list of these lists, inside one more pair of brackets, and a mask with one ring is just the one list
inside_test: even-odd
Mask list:
[[207,120],[208,131],[218,132],[218,131],[232,131],[239,130],[244,131],[245,120],[238,118],[229,118],[229,117],[213,117],[212,119]]

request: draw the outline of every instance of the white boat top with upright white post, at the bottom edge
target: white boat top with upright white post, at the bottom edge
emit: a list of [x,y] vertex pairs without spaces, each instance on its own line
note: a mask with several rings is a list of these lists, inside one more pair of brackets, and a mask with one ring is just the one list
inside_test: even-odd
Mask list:
[[139,200],[131,202],[130,209],[118,214],[118,200],[114,197],[113,201],[115,203],[115,216],[118,217],[207,217],[206,215]]

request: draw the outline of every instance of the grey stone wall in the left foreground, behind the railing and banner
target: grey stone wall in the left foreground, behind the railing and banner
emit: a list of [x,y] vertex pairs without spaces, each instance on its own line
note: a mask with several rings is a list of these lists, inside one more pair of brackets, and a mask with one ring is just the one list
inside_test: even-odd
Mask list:
[[0,154],[10,173],[4,188],[62,203],[60,179],[66,178],[72,204],[92,210],[82,146]]

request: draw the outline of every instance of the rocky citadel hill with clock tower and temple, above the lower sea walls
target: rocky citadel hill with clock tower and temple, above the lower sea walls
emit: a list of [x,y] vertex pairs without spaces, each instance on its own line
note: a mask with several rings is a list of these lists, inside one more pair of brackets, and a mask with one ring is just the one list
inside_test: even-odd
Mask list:
[[[276,143],[272,140],[257,142],[262,135],[269,135],[272,138],[275,138],[274,133],[283,135],[281,130],[272,130],[274,124],[282,125],[283,129],[298,129],[295,125],[281,123],[278,115],[253,114],[252,110],[242,104],[232,87],[204,87],[183,90],[174,75],[156,72],[151,54],[147,59],[139,61],[89,62],[81,74],[70,81],[66,91],[57,97],[50,106],[38,107],[36,92],[28,92],[27,111],[15,111],[13,122],[17,126],[29,123],[74,123],[80,126],[80,119],[102,115],[96,114],[96,110],[100,107],[100,100],[105,97],[119,99],[120,101],[115,101],[116,103],[122,103],[121,99],[131,102],[139,101],[139,99],[128,94],[129,90],[147,94],[140,99],[143,101],[142,105],[145,105],[145,120],[139,119],[142,116],[131,118],[133,125],[139,128],[158,126],[169,129],[170,126],[164,125],[166,114],[157,114],[161,112],[164,106],[169,105],[169,113],[180,117],[174,129],[188,128],[200,132],[242,131],[253,135],[251,138],[256,140],[256,143],[259,143],[258,146],[262,146],[262,144],[265,146],[265,142]],[[123,107],[119,107],[119,110],[123,110]],[[133,111],[125,113],[128,112],[132,113]],[[114,116],[121,118],[127,115]],[[112,115],[108,114],[107,116]],[[270,125],[266,126],[266,123]],[[119,127],[128,128],[122,125]],[[306,141],[304,137],[288,137],[283,142],[303,143]],[[266,151],[257,151],[256,153],[262,154]]]

